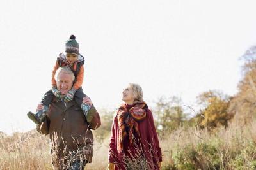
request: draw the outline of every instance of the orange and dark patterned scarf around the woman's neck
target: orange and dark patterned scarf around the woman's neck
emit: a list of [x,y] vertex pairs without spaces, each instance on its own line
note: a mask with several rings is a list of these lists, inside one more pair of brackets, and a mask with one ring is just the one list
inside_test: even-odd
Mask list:
[[127,107],[126,104],[120,106],[117,113],[118,126],[120,128],[118,150],[124,149],[124,140],[127,136],[131,145],[134,140],[134,134],[140,138],[138,122],[146,118],[146,108],[148,106],[145,102],[135,103],[131,108]]

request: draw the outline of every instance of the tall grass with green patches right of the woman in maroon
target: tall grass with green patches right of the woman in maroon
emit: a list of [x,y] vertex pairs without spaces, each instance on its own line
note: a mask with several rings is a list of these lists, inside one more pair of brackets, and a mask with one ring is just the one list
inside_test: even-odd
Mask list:
[[256,122],[214,132],[180,128],[161,141],[162,169],[256,169]]

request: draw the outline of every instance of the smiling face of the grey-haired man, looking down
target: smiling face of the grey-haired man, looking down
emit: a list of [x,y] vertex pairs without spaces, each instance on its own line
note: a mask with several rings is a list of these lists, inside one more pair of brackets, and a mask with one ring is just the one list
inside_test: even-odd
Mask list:
[[67,92],[72,88],[73,82],[70,74],[60,73],[57,80],[57,89],[61,94],[67,94]]

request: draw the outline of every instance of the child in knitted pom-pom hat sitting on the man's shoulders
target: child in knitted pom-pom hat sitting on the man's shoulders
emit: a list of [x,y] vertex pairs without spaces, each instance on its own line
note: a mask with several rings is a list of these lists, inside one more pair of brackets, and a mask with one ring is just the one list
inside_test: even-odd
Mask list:
[[[52,102],[53,95],[65,102],[72,101],[74,98],[76,103],[81,106],[87,122],[92,121],[93,115],[96,113],[94,106],[83,103],[83,98],[86,97],[86,95],[83,93],[83,89],[81,88],[84,77],[84,57],[79,53],[79,44],[76,41],[76,37],[71,35],[65,46],[65,53],[60,53],[60,56],[57,58],[56,64],[52,71],[52,89],[45,93],[41,102],[42,109],[36,111],[36,114],[30,111],[27,114],[28,117],[36,124],[44,122],[45,113],[49,110],[49,105]],[[73,87],[65,95],[61,94],[61,92],[57,89],[56,80],[54,79],[56,70],[59,67],[64,66],[70,67],[75,75]]]

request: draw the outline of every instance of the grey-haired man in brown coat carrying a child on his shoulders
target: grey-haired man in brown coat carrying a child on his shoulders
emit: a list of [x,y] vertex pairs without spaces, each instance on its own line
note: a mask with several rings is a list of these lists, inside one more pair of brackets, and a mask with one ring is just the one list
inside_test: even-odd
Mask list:
[[[49,134],[54,169],[84,169],[86,163],[92,162],[91,129],[100,126],[100,116],[96,112],[92,120],[88,121],[76,101],[66,103],[63,100],[74,81],[74,73],[69,67],[60,67],[55,78],[61,95],[54,96],[45,120],[38,125],[37,130]],[[92,101],[88,99],[86,103],[92,104]]]

